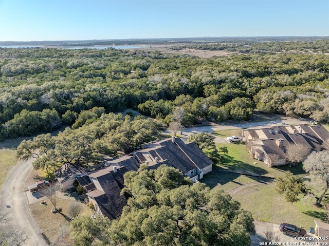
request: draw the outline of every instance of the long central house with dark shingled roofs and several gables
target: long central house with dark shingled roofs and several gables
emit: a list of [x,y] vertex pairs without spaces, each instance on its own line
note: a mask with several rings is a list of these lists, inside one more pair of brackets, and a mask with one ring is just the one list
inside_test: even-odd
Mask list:
[[106,160],[103,168],[80,176],[77,180],[87,191],[96,212],[115,219],[121,216],[127,204],[128,197],[120,195],[124,186],[123,175],[128,171],[137,171],[141,164],[148,165],[150,169],[162,164],[172,166],[196,181],[211,172],[213,162],[195,143],[186,144],[172,137],[143,144],[141,149],[131,155]]

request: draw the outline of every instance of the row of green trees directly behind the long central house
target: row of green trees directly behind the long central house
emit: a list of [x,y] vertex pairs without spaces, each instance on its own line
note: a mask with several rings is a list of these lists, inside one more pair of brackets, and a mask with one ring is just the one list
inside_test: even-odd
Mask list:
[[35,158],[34,168],[47,172],[67,164],[87,166],[100,162],[102,155],[130,153],[154,140],[161,129],[162,124],[153,119],[103,114],[77,129],[67,127],[58,136],[45,134],[23,140],[17,147],[17,156],[24,160]]

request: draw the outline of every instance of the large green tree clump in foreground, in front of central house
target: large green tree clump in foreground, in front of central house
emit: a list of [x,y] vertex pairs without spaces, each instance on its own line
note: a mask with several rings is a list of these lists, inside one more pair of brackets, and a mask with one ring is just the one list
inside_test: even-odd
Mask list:
[[76,245],[250,244],[249,233],[255,232],[251,214],[222,190],[210,191],[203,183],[192,185],[177,169],[165,165],[128,172],[124,184],[122,193],[132,198],[120,220],[76,219],[71,225]]

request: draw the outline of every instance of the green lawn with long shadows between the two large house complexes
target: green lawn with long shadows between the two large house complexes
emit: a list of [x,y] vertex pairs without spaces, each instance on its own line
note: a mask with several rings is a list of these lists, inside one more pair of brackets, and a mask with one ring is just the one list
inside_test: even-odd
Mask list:
[[[232,131],[221,131],[224,136],[231,133]],[[286,171],[295,175],[307,175],[301,165],[268,167],[263,162],[253,159],[243,144],[217,144],[217,147],[222,146],[227,147],[228,155],[224,155],[221,162],[215,163],[213,172],[202,180],[210,188],[221,188],[230,193],[233,199],[241,203],[243,209],[252,213],[254,219],[279,224],[289,222],[305,229],[309,226],[314,227],[314,219],[324,219],[324,210],[314,206],[309,200],[287,202],[284,195],[276,193],[276,182],[273,179],[223,172],[234,171],[275,178],[284,175]]]

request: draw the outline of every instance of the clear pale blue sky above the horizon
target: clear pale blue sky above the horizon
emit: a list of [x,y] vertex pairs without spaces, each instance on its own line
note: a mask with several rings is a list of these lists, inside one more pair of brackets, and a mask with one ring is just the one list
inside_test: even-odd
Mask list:
[[0,0],[0,41],[329,36],[329,0]]

